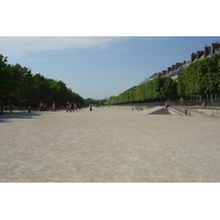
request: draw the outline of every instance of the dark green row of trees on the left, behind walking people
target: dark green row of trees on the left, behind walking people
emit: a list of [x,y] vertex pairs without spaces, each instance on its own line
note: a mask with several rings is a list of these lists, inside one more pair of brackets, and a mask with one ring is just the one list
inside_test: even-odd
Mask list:
[[4,105],[37,107],[40,102],[65,106],[67,101],[85,103],[84,98],[72,91],[61,80],[48,79],[20,64],[8,64],[0,54],[0,102]]

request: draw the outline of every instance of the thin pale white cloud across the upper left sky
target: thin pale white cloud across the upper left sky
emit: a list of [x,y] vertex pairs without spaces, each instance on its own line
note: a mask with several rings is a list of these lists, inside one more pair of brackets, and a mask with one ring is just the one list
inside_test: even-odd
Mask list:
[[[130,37],[131,38],[131,37]],[[0,54],[23,57],[31,52],[48,52],[76,48],[108,48],[125,41],[122,36],[1,36]]]

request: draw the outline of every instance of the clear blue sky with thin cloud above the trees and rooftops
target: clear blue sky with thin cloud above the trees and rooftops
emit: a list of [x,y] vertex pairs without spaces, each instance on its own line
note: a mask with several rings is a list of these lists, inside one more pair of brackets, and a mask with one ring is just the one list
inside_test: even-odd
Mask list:
[[82,98],[103,99],[190,61],[220,36],[0,36],[0,54]]

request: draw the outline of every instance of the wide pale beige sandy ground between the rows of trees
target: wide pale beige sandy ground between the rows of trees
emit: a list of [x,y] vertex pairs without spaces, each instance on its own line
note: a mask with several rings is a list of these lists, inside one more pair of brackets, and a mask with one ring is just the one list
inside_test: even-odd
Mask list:
[[0,116],[0,182],[220,182],[219,118],[146,111]]

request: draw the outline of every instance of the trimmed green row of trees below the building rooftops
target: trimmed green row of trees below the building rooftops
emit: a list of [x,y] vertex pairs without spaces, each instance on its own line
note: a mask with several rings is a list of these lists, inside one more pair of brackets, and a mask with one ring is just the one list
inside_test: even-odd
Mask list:
[[189,97],[190,95],[207,96],[220,94],[220,53],[210,58],[191,63],[178,81],[168,77],[158,77],[146,84],[136,86],[118,97],[107,101],[107,105],[162,101]]

